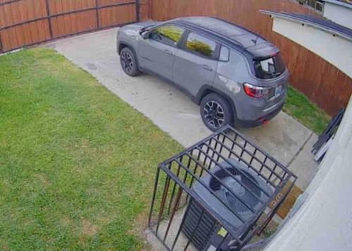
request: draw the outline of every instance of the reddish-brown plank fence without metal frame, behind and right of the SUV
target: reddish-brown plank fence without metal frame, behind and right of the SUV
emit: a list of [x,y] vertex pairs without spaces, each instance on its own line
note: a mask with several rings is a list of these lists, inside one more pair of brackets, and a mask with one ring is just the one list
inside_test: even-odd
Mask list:
[[181,16],[216,16],[258,32],[277,45],[291,73],[290,83],[329,114],[346,106],[352,80],[320,56],[272,32],[272,19],[260,9],[318,15],[291,0],[153,0],[154,20]]

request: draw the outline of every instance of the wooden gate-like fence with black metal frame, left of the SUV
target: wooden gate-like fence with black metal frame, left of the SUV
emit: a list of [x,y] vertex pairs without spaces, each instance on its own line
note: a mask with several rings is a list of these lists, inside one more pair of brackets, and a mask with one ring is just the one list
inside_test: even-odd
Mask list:
[[149,0],[0,0],[0,53],[149,18]]

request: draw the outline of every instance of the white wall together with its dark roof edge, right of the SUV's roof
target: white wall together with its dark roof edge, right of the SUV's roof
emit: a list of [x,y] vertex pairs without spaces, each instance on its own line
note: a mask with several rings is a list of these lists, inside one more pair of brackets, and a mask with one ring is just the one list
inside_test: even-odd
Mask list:
[[260,11],[272,30],[300,44],[352,78],[352,30],[329,20],[295,13]]

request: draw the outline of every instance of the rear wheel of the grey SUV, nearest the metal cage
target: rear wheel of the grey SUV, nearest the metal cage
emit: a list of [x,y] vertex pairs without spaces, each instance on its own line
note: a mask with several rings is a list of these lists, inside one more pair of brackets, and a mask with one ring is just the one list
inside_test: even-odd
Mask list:
[[213,132],[225,125],[233,125],[234,122],[230,103],[216,93],[210,93],[201,100],[201,118]]

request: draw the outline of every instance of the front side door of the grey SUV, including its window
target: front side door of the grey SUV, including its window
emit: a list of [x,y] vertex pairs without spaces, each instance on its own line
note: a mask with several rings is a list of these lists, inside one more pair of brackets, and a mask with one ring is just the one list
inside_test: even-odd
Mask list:
[[177,25],[163,25],[149,32],[139,44],[140,66],[163,78],[172,80],[175,51],[184,29]]

